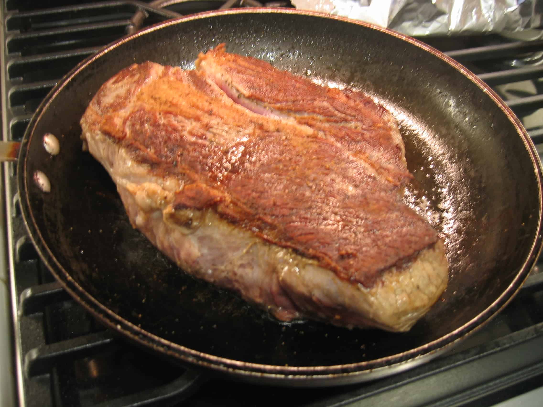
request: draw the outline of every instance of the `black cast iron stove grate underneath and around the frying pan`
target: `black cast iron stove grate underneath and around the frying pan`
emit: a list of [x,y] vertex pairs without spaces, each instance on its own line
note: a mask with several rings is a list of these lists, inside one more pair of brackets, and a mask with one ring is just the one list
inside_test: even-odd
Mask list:
[[[41,8],[32,1],[3,7],[3,138],[20,141],[31,115],[62,76],[100,47],[134,28],[135,1]],[[190,14],[234,1],[193,1],[171,10]],[[242,5],[260,5],[254,0]],[[287,3],[268,3],[285,6]],[[147,9],[144,24],[171,17]],[[480,74],[521,118],[542,116],[543,40],[501,36],[426,40]],[[535,57],[534,57],[535,56]],[[519,65],[521,65],[519,67]],[[519,82],[520,83],[520,82]],[[509,94],[508,94],[509,92]],[[533,123],[533,120],[530,122]],[[525,122],[526,125],[526,122]],[[542,151],[543,123],[527,126]],[[543,273],[539,265],[509,306],[443,357],[372,383],[325,389],[284,389],[200,380],[192,371],[141,351],[100,326],[72,301],[40,262],[18,203],[16,166],[5,168],[18,397],[25,406],[176,405],[493,405],[543,383]],[[188,399],[187,399],[188,398]],[[401,402],[399,402],[401,400]]]

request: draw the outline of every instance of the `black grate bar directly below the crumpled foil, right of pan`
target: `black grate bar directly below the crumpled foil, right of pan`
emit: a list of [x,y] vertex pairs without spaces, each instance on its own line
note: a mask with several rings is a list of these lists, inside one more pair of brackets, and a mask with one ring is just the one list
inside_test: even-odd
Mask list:
[[498,59],[506,56],[519,55],[541,50],[543,50],[543,40],[535,40],[507,42],[483,47],[458,49],[446,52],[445,54],[460,62],[472,62]]

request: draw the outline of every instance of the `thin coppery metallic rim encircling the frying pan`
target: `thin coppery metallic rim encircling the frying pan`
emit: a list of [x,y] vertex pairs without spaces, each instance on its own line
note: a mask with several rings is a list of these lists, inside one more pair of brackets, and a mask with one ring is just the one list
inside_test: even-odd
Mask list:
[[[421,48],[426,52],[429,52],[451,65],[454,69],[463,74],[466,78],[471,80],[477,85],[484,93],[494,101],[494,103],[500,107],[502,112],[507,116],[510,122],[514,125],[517,133],[521,137],[525,148],[531,157],[535,176],[539,180],[538,182],[538,198],[539,198],[539,219],[536,227],[536,238],[533,241],[532,247],[529,250],[526,260],[523,262],[520,269],[516,272],[516,276],[509,284],[508,288],[502,292],[496,300],[490,304],[485,310],[479,313],[472,320],[466,322],[464,325],[453,330],[449,334],[442,336],[432,342],[428,342],[425,345],[409,349],[409,351],[390,355],[388,357],[356,362],[352,364],[342,365],[326,365],[326,366],[279,366],[279,365],[265,365],[257,363],[249,363],[241,360],[227,359],[223,357],[217,357],[212,354],[207,354],[194,349],[187,348],[182,345],[175,344],[174,342],[160,338],[160,336],[154,335],[146,330],[138,328],[133,323],[125,320],[121,316],[113,313],[110,309],[106,308],[102,303],[97,301],[93,296],[84,290],[68,272],[61,266],[53,253],[49,250],[49,247],[45,243],[39,228],[33,217],[33,213],[30,211],[29,193],[28,193],[28,179],[25,176],[27,168],[27,155],[26,145],[28,145],[33,136],[35,136],[36,124],[40,121],[43,112],[47,110],[47,107],[55,98],[55,96],[64,88],[81,70],[87,65],[90,65],[94,60],[99,59],[104,54],[108,53],[111,49],[121,46],[125,42],[128,42],[140,35],[146,35],[154,30],[159,30],[165,27],[169,27],[175,24],[181,24],[187,21],[201,20],[210,17],[231,15],[231,14],[289,14],[289,15],[302,15],[318,18],[326,18],[331,20],[343,21],[346,23],[357,24],[358,26],[366,27],[373,30],[382,31],[388,35],[392,35],[400,40],[407,41],[413,46]],[[37,136],[36,136],[37,137]],[[136,342],[140,342],[142,345],[155,348],[169,356],[175,357],[181,361],[187,363],[196,364],[202,367],[209,367],[214,370],[224,371],[228,373],[235,373],[241,376],[257,376],[261,378],[267,378],[273,381],[284,379],[311,379],[313,382],[317,379],[323,379],[330,381],[333,379],[334,383],[352,383],[353,381],[363,381],[364,379],[374,379],[381,376],[387,376],[395,372],[406,370],[407,368],[414,367],[415,365],[424,363],[426,360],[431,359],[438,354],[444,352],[447,348],[451,347],[458,340],[462,339],[465,335],[475,332],[477,329],[485,325],[491,318],[498,313],[500,309],[505,307],[507,303],[512,300],[516,292],[520,289],[522,283],[528,277],[529,271],[531,271],[535,261],[541,251],[541,227],[543,222],[543,196],[541,184],[543,177],[541,175],[541,162],[539,155],[537,154],[535,147],[528,136],[528,133],[523,128],[520,120],[514,115],[513,111],[503,102],[503,100],[483,81],[478,79],[475,74],[454,61],[449,56],[439,52],[438,50],[415,40],[407,35],[397,33],[394,30],[375,26],[374,24],[365,23],[361,21],[353,21],[345,17],[331,16],[320,12],[295,10],[295,9],[271,9],[271,8],[255,8],[255,9],[232,9],[232,10],[220,10],[220,11],[207,11],[195,15],[181,17],[175,20],[168,20],[159,24],[155,24],[149,28],[138,31],[130,36],[125,36],[108,46],[105,46],[97,54],[94,54],[81,62],[77,67],[72,69],[71,72],[56,85],[48,96],[43,100],[42,104],[36,110],[30,125],[23,137],[21,148],[21,156],[18,162],[18,186],[19,190],[24,194],[24,200],[21,200],[22,215],[24,224],[26,225],[30,239],[39,252],[41,258],[49,268],[52,270],[55,277],[60,283],[67,289],[67,291],[83,306],[90,311],[95,317],[113,330],[121,332],[123,335],[128,336],[129,339]],[[369,374],[371,373],[371,374]],[[371,377],[369,377],[371,376]],[[321,383],[322,384],[322,383]]]

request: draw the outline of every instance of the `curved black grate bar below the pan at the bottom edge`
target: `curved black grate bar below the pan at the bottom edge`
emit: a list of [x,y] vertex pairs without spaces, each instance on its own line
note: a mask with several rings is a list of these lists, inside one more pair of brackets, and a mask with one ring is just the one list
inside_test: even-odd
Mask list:
[[170,383],[133,395],[109,400],[95,407],[165,407],[179,405],[207,381],[203,372],[188,369]]

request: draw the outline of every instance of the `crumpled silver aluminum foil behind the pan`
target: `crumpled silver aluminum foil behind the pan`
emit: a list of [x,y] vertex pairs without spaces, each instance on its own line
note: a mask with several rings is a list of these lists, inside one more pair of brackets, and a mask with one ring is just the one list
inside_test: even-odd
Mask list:
[[291,0],[412,36],[514,33],[539,27],[543,0]]

